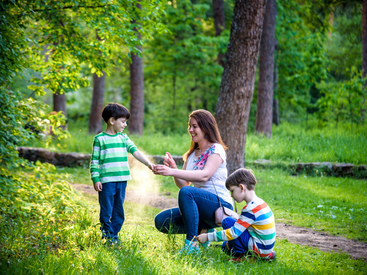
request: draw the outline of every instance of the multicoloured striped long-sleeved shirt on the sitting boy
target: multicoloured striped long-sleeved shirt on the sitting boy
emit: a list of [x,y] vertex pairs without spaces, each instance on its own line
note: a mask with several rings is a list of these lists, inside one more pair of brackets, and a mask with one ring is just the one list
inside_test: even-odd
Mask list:
[[209,233],[208,238],[216,242],[230,241],[238,238],[245,230],[251,236],[248,242],[251,253],[267,258],[275,244],[275,220],[270,207],[261,199],[248,202],[233,227]]

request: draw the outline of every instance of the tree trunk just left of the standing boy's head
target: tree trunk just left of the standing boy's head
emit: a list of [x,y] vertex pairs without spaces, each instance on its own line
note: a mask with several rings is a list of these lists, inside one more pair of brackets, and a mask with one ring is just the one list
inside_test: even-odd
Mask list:
[[[98,36],[96,31],[96,38],[101,41],[101,37]],[[97,74],[93,74],[93,94],[91,112],[89,115],[88,132],[91,134],[98,134],[102,132],[102,110],[103,110],[103,96],[105,94],[105,79],[106,75],[102,71],[103,75],[98,77]]]

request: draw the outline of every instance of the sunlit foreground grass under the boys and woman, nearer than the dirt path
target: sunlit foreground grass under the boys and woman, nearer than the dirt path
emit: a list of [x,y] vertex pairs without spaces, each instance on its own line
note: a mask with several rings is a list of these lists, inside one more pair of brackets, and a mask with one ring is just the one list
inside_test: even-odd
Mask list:
[[[97,197],[88,198],[90,207],[98,207]],[[234,264],[218,247],[199,255],[175,254],[182,246],[183,235],[172,236],[153,228],[153,217],[159,211],[126,202],[126,223],[121,231],[122,246],[111,248],[98,240],[97,230],[69,227],[70,240],[56,251],[1,257],[0,274],[366,274],[367,264],[351,260],[343,253],[324,253],[277,239],[278,260],[273,263]],[[93,212],[92,220],[97,219]],[[25,228],[29,221],[19,226]],[[25,235],[10,233],[16,242]],[[89,241],[88,241],[89,239]],[[90,241],[91,240],[91,241]],[[80,244],[85,241],[84,246]],[[6,245],[6,244],[3,244]],[[20,248],[19,248],[20,249]],[[34,249],[35,252],[37,251]]]

